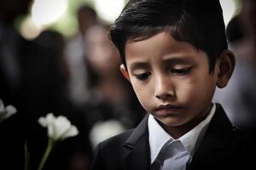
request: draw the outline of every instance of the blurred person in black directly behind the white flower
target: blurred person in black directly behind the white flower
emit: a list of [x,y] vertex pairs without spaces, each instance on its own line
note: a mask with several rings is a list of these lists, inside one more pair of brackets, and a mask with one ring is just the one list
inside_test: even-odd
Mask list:
[[68,70],[64,57],[65,39],[57,31],[43,31],[32,44],[26,60],[27,147],[31,167],[36,169],[47,145],[46,129],[38,117],[53,112],[63,115],[79,128],[79,135],[55,147],[44,169],[74,169],[73,157],[84,156],[83,169],[89,168],[90,143],[86,127],[67,97]]

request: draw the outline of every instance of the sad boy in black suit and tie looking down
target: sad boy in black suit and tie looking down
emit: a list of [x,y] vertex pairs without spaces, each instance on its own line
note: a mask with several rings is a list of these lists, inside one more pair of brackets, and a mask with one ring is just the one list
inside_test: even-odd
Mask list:
[[235,66],[218,0],[131,0],[109,34],[148,115],[99,144],[93,170],[246,166],[245,139],[212,103]]

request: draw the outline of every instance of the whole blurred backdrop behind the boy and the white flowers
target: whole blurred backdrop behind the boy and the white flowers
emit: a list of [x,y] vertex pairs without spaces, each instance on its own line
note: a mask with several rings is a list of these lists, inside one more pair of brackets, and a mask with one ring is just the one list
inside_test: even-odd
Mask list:
[[[120,75],[108,28],[128,0],[1,0],[0,99],[18,112],[0,124],[0,165],[22,169],[24,144],[32,169],[44,153],[46,129],[38,117],[53,112],[79,128],[59,144],[45,169],[89,169],[99,142],[136,127],[145,111]],[[220,0],[236,69],[217,89],[230,120],[253,131],[256,122],[253,0]],[[14,163],[15,162],[15,163]]]

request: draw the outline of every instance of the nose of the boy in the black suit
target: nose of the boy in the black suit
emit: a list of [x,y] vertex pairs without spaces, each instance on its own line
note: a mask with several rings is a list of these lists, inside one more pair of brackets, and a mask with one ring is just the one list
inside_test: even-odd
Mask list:
[[157,99],[175,98],[176,94],[172,78],[168,76],[156,77],[154,94]]

